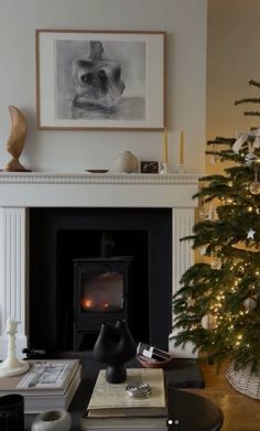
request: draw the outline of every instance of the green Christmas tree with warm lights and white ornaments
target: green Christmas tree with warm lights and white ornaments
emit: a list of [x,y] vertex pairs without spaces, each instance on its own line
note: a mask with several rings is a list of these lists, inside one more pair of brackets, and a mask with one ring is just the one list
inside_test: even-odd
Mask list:
[[[260,98],[235,104],[243,103]],[[184,272],[173,298],[174,343],[192,342],[210,362],[230,360],[234,369],[250,366],[254,374],[260,371],[260,129],[217,137],[207,142],[206,154],[225,168],[199,180],[194,197],[201,217],[193,235],[182,238],[203,261]]]

